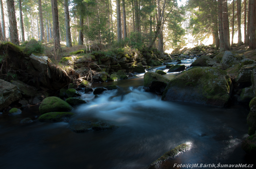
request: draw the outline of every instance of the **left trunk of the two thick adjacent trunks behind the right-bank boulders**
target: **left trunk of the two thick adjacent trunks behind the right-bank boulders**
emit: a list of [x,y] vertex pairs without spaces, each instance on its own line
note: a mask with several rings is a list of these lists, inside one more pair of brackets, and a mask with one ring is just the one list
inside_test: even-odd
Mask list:
[[222,0],[218,0],[218,22],[219,22],[219,37],[220,37],[220,52],[225,51],[224,33],[223,33],[223,18],[222,18]]

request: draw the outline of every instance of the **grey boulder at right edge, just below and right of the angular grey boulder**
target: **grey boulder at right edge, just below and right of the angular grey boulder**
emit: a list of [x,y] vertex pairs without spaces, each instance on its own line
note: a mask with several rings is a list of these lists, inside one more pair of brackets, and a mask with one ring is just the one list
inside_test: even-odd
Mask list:
[[251,82],[252,70],[256,68],[256,64],[243,66],[235,79],[237,83]]

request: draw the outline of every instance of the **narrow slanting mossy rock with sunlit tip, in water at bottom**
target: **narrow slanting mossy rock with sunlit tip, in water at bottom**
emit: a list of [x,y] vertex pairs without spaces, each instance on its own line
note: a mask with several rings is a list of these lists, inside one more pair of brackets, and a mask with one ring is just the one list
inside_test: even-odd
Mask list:
[[158,158],[156,161],[152,162],[150,165],[154,166],[156,165],[158,162],[163,162],[168,160],[169,158],[174,158],[177,155],[179,155],[180,153],[183,153],[185,151],[188,151],[191,149],[191,145],[184,143],[184,144],[180,144],[179,146],[175,147],[174,149],[171,149],[171,151],[168,151],[166,153],[164,153],[160,158]]

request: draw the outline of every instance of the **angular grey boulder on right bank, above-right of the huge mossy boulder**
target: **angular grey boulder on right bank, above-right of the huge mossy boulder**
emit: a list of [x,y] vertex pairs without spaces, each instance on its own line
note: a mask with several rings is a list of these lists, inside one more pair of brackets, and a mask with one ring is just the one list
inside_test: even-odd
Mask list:
[[231,51],[225,51],[220,64],[224,67],[224,69],[227,69],[233,65],[238,64],[244,58],[244,55],[237,54]]

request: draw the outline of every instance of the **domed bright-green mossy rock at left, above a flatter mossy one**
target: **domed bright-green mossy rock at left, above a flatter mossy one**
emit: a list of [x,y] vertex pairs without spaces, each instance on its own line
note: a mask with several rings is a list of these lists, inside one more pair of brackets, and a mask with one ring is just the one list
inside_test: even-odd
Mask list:
[[55,96],[46,97],[39,106],[39,112],[41,114],[49,112],[64,112],[72,109],[73,107],[71,107],[71,105]]

